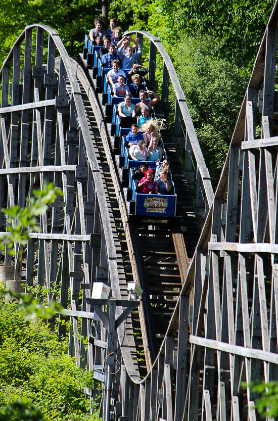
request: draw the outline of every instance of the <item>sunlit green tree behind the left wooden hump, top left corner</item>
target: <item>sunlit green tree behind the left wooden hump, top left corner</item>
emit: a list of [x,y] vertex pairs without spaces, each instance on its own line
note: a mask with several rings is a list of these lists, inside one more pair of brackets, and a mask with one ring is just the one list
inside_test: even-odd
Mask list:
[[70,55],[81,51],[84,35],[100,12],[98,0],[2,0],[0,8],[0,61],[6,58],[26,25],[41,23],[56,29]]

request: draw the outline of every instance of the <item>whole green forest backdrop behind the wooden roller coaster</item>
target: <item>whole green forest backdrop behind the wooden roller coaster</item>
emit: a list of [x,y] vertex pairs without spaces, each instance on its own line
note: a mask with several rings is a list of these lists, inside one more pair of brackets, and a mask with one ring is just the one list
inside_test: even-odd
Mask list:
[[[274,0],[108,2],[109,17],[116,17],[123,31],[147,30],[164,43],[184,89],[214,188],[273,4]],[[57,29],[68,53],[77,56],[84,34],[101,13],[98,0],[2,0],[0,62],[32,23]]]

